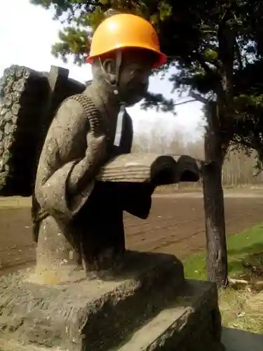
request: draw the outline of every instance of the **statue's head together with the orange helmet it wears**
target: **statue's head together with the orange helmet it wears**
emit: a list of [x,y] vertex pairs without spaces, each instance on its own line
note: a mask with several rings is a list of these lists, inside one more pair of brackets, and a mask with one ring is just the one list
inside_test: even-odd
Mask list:
[[144,98],[151,70],[163,65],[166,55],[147,20],[118,14],[97,27],[88,62],[93,65],[94,79],[106,82],[119,102],[131,106]]

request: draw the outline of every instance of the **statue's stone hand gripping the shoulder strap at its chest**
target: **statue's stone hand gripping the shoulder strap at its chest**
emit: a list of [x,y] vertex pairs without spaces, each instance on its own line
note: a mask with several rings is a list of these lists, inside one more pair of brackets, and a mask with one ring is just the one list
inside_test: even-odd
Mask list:
[[88,150],[90,159],[96,164],[102,164],[107,159],[108,141],[105,135],[95,135],[88,133],[87,135]]

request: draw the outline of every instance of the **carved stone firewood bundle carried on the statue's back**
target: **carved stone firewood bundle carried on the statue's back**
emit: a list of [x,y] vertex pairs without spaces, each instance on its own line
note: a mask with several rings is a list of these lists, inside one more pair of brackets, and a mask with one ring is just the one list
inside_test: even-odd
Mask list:
[[0,194],[32,194],[41,114],[48,79],[27,67],[12,65],[0,79]]

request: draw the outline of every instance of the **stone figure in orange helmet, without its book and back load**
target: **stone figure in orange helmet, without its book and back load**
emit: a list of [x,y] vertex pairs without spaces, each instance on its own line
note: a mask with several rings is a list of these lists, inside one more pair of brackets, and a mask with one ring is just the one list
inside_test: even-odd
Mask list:
[[[127,20],[135,26],[133,38],[123,34]],[[111,32],[112,24],[119,26],[118,34]],[[88,58],[93,82],[62,103],[39,159],[36,272],[110,267],[125,252],[123,211],[149,215],[153,184],[102,183],[95,176],[116,154],[130,152],[133,126],[125,107],[142,100],[151,69],[165,60],[156,32],[142,18],[114,15],[98,27]]]

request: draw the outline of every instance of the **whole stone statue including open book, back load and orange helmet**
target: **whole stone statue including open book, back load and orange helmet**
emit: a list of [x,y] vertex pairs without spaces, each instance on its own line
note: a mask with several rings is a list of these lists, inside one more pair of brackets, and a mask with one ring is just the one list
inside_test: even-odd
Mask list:
[[36,273],[48,279],[112,267],[125,252],[123,211],[147,218],[157,185],[199,177],[185,155],[129,154],[125,107],[143,98],[151,69],[166,56],[149,22],[106,17],[93,37],[86,86],[53,66],[45,73],[12,65],[0,79],[0,195],[32,196]]

